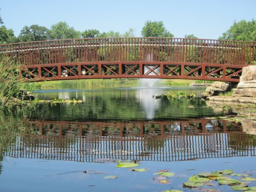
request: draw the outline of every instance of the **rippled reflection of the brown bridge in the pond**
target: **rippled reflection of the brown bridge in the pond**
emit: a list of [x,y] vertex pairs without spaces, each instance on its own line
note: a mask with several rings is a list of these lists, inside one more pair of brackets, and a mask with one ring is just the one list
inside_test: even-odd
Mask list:
[[243,133],[241,124],[225,120],[24,124],[31,129],[16,137],[6,156],[81,162],[255,156],[253,136]]

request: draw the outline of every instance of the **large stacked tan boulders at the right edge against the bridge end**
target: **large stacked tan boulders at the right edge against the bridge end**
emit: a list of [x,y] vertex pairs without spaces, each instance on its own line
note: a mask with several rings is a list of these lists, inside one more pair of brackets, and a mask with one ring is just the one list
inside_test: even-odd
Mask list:
[[234,97],[256,96],[256,66],[247,66],[242,70],[238,89],[233,91]]

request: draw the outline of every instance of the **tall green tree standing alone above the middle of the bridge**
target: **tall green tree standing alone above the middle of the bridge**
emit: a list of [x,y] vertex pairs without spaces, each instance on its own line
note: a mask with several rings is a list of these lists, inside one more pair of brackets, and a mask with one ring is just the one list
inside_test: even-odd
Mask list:
[[151,20],[145,22],[141,34],[143,37],[174,37],[165,29],[163,22],[152,22]]

